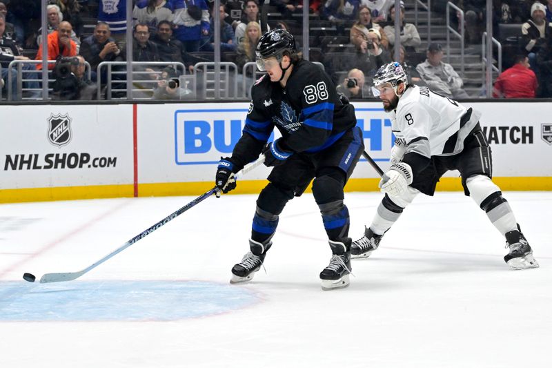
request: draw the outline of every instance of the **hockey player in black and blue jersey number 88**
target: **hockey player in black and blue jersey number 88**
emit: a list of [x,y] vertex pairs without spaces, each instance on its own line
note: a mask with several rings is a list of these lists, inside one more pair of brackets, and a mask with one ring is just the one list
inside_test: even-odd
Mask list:
[[[279,214],[314,179],[313,195],[333,253],[320,273],[322,289],[347,287],[351,238],[343,187],[364,150],[355,109],[337,94],[322,68],[302,59],[286,30],[266,32],[256,53],[257,66],[266,75],[251,90],[243,135],[232,156],[221,158],[215,183],[223,193],[231,191],[236,187],[232,174],[261,153],[264,164],[274,168],[257,199],[250,252],[235,264],[230,282],[253,278],[272,246]],[[275,127],[282,137],[267,144]]]

